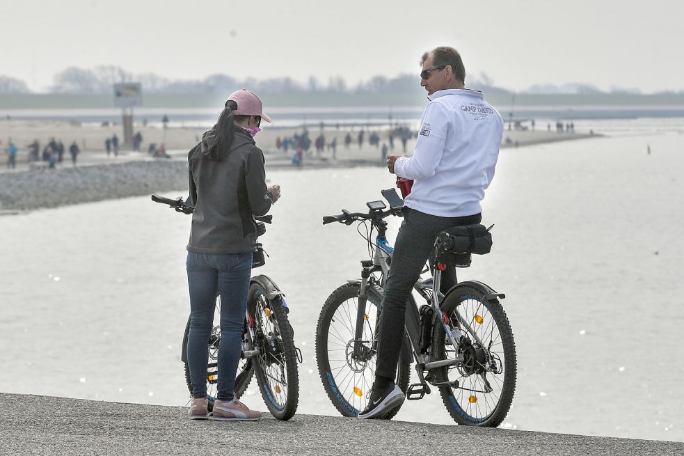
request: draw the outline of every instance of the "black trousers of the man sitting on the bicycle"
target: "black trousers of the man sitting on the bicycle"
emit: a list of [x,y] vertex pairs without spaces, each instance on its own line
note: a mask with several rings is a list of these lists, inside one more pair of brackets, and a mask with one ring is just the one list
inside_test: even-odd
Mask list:
[[[480,223],[482,214],[467,217],[437,217],[408,209],[399,228],[395,251],[392,253],[390,274],[385,281],[378,359],[375,375],[395,379],[399,352],[404,340],[404,317],[406,300],[413,285],[420,277],[425,262],[434,257],[434,243],[440,231],[457,225]],[[442,273],[440,290],[448,290],[456,285],[456,269],[448,267]]]

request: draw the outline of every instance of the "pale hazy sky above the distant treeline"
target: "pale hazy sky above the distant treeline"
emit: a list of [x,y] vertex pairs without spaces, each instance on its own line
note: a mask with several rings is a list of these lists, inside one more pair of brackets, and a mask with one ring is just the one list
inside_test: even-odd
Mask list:
[[[69,66],[350,85],[459,49],[495,85],[684,89],[684,2],[0,0],[0,75],[33,90]],[[416,81],[418,84],[418,81]],[[466,79],[468,85],[468,79]],[[144,88],[143,88],[144,90]]]

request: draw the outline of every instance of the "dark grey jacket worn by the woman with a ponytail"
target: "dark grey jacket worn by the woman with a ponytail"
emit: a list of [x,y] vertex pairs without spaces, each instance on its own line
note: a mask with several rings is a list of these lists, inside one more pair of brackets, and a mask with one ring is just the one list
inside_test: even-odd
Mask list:
[[190,198],[195,205],[187,249],[196,253],[247,253],[255,250],[254,215],[271,209],[264,154],[241,127],[221,162],[202,155],[216,139],[214,129],[188,154]]

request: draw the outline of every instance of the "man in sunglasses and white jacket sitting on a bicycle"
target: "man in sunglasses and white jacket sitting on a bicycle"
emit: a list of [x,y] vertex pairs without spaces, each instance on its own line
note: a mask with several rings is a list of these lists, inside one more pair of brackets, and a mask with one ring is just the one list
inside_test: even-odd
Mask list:
[[[404,402],[395,377],[406,299],[437,234],[482,220],[480,201],[493,178],[503,134],[503,119],[484,101],[482,92],[466,89],[466,70],[456,49],[437,47],[422,56],[421,64],[420,85],[430,102],[413,157],[387,157],[390,173],[414,183],[404,200],[404,221],[384,286],[375,381],[359,418],[374,418]],[[453,267],[447,271],[441,290],[456,283]]]

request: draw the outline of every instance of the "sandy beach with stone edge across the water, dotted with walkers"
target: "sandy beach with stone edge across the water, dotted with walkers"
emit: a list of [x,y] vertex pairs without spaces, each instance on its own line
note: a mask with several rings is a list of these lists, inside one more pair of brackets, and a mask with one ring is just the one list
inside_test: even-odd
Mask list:
[[[130,146],[123,145],[119,155],[115,156],[113,153],[106,154],[104,139],[115,133],[122,136],[120,127],[116,125],[81,125],[57,120],[0,120],[0,148],[3,151],[0,155],[0,214],[186,188],[187,152],[199,141],[205,129],[177,127],[164,131],[157,127],[136,125],[136,131],[143,136],[142,152],[134,152]],[[368,143],[369,132],[366,131],[365,141],[360,147],[357,142],[359,131],[358,127],[349,130],[324,129],[326,144],[337,139],[335,154],[329,147],[317,152],[312,144],[309,153],[303,154],[302,166],[293,164],[292,148],[285,152],[283,148],[276,147],[278,138],[301,134],[301,130],[267,126],[257,135],[256,141],[257,146],[264,150],[267,169],[384,166],[381,147],[383,143],[389,146],[388,130],[373,130],[379,135],[378,146]],[[347,133],[352,138],[349,147],[344,146]],[[313,142],[321,130],[309,129],[309,134]],[[502,148],[591,136],[598,135],[506,130]],[[64,143],[67,152],[63,155],[63,162],[58,163],[55,169],[49,169],[47,162],[29,162],[28,145],[38,140],[42,148],[51,138]],[[7,166],[4,152],[10,140],[19,148],[17,164],[12,169]],[[72,141],[76,141],[81,149],[76,166],[72,164],[68,152]],[[162,141],[166,141],[170,159],[153,158],[147,152],[150,143],[158,145]],[[414,144],[412,135],[406,142],[408,155]],[[404,153],[399,139],[395,138],[394,146],[393,150],[388,147],[388,153]]]

